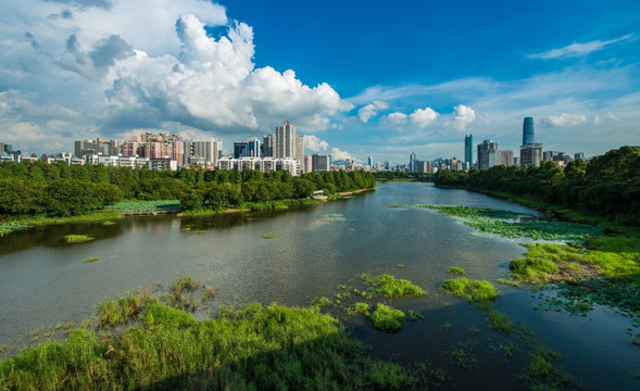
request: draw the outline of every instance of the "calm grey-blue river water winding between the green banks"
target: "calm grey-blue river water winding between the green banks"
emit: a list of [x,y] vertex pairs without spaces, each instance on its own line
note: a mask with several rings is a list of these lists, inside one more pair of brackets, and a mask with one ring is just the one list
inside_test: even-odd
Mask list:
[[[314,298],[332,297],[340,283],[356,285],[362,273],[388,273],[429,292],[392,302],[419,311],[423,320],[385,333],[363,317],[331,310],[354,338],[372,346],[371,355],[428,362],[444,370],[448,388],[526,389],[518,376],[530,353],[525,343],[529,332],[493,331],[477,307],[438,291],[439,283],[454,277],[446,272],[451,266],[463,267],[468,278],[494,282],[506,277],[509,262],[522,256],[524,248],[472,235],[472,228],[430,210],[388,207],[412,204],[535,213],[464,190],[393,182],[353,199],[279,212],[129,218],[112,226],[15,232],[0,239],[0,345],[36,328],[83,320],[104,298],[187,275],[216,289],[213,305],[205,308],[215,312],[223,304],[251,301],[308,305]],[[66,244],[62,237],[68,234],[96,240]],[[276,237],[262,238],[266,234]],[[83,262],[87,256],[100,260]],[[531,346],[559,352],[562,368],[583,389],[640,388],[640,348],[626,333],[632,326],[628,318],[605,307],[586,317],[535,311],[539,293],[497,286],[502,294],[493,307],[507,314],[516,329],[531,331]]]

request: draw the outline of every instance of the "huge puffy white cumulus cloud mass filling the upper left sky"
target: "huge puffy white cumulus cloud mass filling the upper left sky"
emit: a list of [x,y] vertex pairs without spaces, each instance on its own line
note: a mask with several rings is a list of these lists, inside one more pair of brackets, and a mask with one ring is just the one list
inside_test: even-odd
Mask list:
[[[251,26],[210,1],[24,0],[13,11],[0,15],[0,85],[18,91],[11,118],[37,126],[42,146],[54,133],[48,122],[61,119],[53,109],[65,121],[83,113],[67,123],[76,137],[200,129],[218,138],[283,118],[324,130],[353,109],[326,83],[256,68]],[[221,25],[226,34],[208,33]]]

